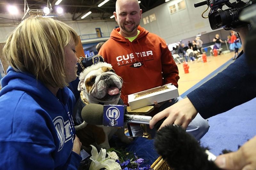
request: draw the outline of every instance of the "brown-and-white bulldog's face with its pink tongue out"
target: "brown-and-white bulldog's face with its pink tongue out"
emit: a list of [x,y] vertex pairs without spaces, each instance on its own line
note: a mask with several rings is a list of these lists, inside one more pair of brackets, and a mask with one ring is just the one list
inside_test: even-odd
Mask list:
[[83,90],[83,96],[89,103],[118,103],[123,79],[115,73],[111,64],[94,64],[80,73],[79,79],[78,90]]

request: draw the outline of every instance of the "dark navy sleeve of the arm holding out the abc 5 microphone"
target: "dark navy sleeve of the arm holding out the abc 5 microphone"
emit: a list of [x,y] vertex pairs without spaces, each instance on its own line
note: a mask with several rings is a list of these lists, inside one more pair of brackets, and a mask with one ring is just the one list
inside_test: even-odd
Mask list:
[[203,118],[223,113],[256,97],[256,77],[245,55],[187,95]]

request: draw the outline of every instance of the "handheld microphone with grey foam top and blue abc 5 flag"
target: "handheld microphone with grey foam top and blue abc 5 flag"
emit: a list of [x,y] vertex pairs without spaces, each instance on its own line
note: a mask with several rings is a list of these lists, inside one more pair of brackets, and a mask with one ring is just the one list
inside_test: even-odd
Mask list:
[[[115,107],[113,109],[112,107]],[[111,108],[112,110],[108,110]],[[117,113],[119,112],[119,113]],[[126,106],[124,105],[100,105],[100,104],[94,104],[89,103],[88,105],[84,106],[81,112],[82,118],[85,122],[93,125],[104,125],[104,126],[112,126],[115,123],[117,124],[117,127],[123,127],[123,123],[138,123],[138,124],[149,124],[150,120],[152,119],[151,116],[145,116],[145,115],[137,115],[137,114],[128,114],[126,110]],[[111,115],[111,116],[109,116]],[[119,115],[119,116],[118,116]],[[123,115],[123,116],[122,116]],[[109,124],[109,121],[105,121],[105,118],[111,117],[113,119],[116,119],[117,122],[114,122],[112,125]],[[121,120],[119,119],[121,117]],[[111,119],[109,118],[109,119]],[[111,120],[110,120],[111,121]],[[156,123],[155,127],[160,127],[163,121],[159,121]],[[161,123],[161,124],[159,124]],[[116,124],[114,126],[116,126]],[[156,128],[156,129],[158,129]]]

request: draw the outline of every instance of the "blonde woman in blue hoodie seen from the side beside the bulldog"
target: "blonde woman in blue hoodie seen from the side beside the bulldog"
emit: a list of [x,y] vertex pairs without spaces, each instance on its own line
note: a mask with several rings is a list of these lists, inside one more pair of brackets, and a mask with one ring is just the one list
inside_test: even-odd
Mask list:
[[77,169],[81,143],[72,121],[77,33],[65,23],[30,17],[3,48],[9,62],[0,91],[0,167]]

